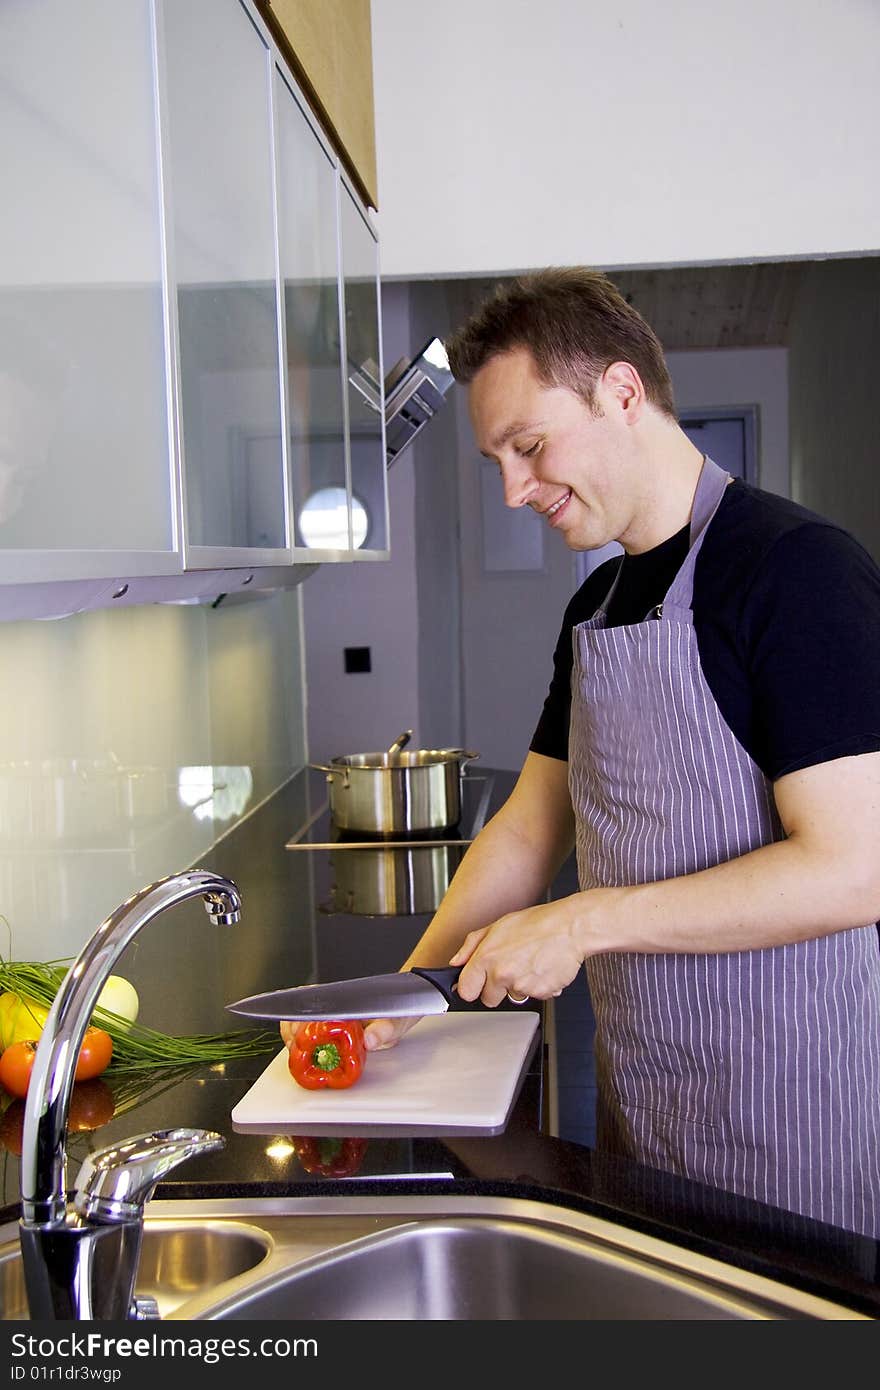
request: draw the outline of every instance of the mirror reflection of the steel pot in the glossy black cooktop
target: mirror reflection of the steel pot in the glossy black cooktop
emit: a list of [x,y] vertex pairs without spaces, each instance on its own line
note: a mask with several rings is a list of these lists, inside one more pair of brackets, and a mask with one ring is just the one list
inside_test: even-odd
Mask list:
[[329,899],[321,912],[407,917],[441,905],[467,845],[331,851]]

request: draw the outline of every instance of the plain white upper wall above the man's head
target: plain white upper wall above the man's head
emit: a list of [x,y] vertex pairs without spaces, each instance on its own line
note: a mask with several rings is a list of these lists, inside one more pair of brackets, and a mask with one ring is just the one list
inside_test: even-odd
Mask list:
[[880,6],[373,0],[386,277],[880,247]]

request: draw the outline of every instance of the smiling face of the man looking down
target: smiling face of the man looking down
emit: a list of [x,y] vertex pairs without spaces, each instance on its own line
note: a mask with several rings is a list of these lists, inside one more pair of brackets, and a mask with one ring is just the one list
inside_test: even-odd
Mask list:
[[566,386],[545,386],[524,348],[492,357],[470,385],[480,452],[500,470],[505,502],[530,506],[573,550],[626,546],[638,475],[620,393],[602,378],[594,414]]

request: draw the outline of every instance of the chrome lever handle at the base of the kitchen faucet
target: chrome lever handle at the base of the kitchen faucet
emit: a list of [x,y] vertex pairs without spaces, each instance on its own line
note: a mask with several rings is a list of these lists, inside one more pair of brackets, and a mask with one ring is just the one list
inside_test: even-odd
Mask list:
[[170,1129],[99,1148],[76,1175],[74,1208],[92,1222],[138,1220],[165,1173],[225,1143],[214,1130]]

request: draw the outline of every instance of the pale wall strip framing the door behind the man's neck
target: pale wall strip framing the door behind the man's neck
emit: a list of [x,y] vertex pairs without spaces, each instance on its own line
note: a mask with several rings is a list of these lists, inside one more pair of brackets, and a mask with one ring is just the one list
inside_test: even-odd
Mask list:
[[790,496],[788,350],[670,352],[666,363],[678,410],[758,406],[758,486]]

